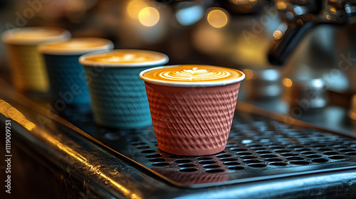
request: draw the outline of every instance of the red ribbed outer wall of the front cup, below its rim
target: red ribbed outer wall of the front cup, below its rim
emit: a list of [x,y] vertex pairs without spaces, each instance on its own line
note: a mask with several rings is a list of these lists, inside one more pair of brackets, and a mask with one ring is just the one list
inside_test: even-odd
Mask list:
[[145,82],[159,149],[204,156],[225,149],[240,83],[216,87],[168,87]]

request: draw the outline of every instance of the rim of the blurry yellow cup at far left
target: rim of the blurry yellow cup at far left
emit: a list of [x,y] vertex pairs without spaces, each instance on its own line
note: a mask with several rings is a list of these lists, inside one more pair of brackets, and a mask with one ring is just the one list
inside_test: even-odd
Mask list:
[[[31,30],[34,28],[48,28],[52,30],[61,31],[60,34],[57,36],[47,36],[43,38],[14,38],[12,34],[14,31],[26,31]],[[56,43],[61,41],[67,41],[71,37],[69,31],[63,28],[56,28],[51,26],[31,26],[31,27],[24,27],[24,28],[11,28],[9,30],[4,31],[1,34],[1,40],[4,43],[14,44],[14,45],[38,45],[43,43]]]

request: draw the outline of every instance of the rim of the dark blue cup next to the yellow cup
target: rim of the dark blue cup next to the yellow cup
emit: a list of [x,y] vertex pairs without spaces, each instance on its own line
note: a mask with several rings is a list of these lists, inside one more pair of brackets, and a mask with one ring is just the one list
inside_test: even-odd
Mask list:
[[[85,38],[85,37],[83,37],[83,38]],[[83,38],[70,38],[70,40],[83,39]],[[51,45],[53,45],[53,44],[60,44],[60,43],[68,42],[68,41],[62,41],[60,43],[38,45],[38,51],[45,55],[83,55],[86,53],[93,53],[93,52],[98,52],[98,51],[103,51],[103,50],[112,50],[112,48],[114,48],[114,43],[112,43],[112,41],[105,39],[105,38],[88,37],[85,39],[101,40],[101,41],[105,41],[106,44],[96,46],[96,47],[90,47],[90,48],[52,48],[51,47]]]

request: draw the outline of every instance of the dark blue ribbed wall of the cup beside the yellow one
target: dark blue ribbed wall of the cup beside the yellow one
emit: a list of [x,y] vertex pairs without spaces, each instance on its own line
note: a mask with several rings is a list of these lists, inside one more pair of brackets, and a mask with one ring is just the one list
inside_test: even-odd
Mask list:
[[53,101],[63,100],[67,104],[89,104],[90,97],[80,55],[44,55],[51,83]]

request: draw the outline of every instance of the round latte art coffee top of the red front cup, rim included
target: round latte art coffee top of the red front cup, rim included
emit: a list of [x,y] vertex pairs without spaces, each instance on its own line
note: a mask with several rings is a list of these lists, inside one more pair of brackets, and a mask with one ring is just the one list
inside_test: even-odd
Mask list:
[[142,71],[142,80],[159,85],[225,85],[244,79],[244,73],[212,65],[176,65]]

